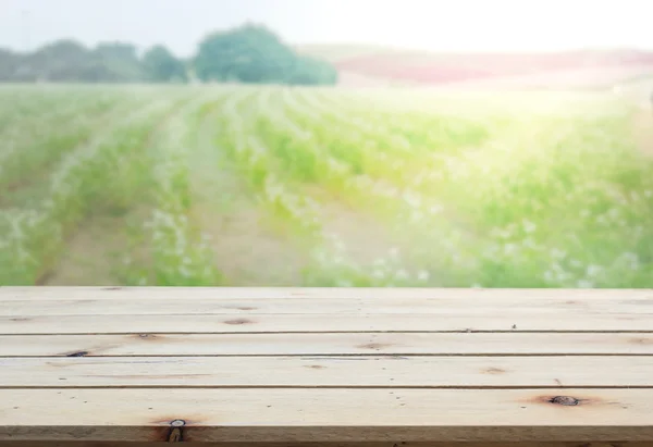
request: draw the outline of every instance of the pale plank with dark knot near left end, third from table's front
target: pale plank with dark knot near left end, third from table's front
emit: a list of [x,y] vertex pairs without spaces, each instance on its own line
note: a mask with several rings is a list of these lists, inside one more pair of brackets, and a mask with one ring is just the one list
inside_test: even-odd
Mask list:
[[653,334],[382,333],[0,336],[0,357],[653,355]]

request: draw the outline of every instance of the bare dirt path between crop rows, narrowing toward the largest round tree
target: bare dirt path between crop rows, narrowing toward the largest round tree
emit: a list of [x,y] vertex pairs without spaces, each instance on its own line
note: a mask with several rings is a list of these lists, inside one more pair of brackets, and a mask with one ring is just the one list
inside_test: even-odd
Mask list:
[[308,254],[298,240],[272,228],[237,167],[215,146],[214,113],[204,119],[190,160],[193,222],[209,238],[229,285],[300,285]]

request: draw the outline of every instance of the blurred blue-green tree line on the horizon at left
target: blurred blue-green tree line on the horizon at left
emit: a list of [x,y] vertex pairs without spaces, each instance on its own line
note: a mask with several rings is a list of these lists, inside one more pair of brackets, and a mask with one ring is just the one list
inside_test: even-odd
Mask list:
[[207,35],[189,59],[176,58],[163,45],[138,54],[127,42],[87,48],[72,39],[34,52],[0,48],[0,82],[332,85],[337,71],[326,61],[296,53],[267,27],[245,24]]

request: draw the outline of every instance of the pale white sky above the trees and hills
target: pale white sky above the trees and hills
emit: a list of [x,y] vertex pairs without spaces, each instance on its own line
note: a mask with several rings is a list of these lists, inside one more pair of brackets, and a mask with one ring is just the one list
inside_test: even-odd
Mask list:
[[653,49],[651,0],[0,0],[0,47],[59,38],[165,44],[193,54],[208,32],[263,23],[303,44],[433,51]]

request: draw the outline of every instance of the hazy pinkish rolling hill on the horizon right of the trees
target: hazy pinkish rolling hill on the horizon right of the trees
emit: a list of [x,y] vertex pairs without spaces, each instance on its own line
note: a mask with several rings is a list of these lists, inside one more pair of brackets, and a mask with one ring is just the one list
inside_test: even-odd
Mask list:
[[343,85],[603,88],[653,76],[653,51],[431,53],[406,49],[315,45],[298,51],[331,61]]

